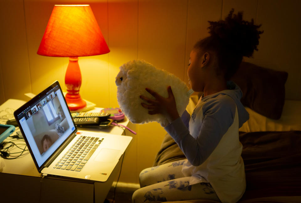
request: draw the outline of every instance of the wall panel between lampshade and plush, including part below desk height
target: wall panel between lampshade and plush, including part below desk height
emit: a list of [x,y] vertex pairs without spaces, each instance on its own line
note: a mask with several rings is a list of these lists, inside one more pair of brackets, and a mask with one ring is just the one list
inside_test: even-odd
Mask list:
[[[109,53],[109,98],[110,104],[105,107],[119,107],[117,102],[117,86],[115,77],[119,67],[127,61],[137,58],[137,33],[138,33],[138,1],[108,1],[108,46]],[[129,127],[137,131],[134,124]],[[137,136],[126,131],[127,136],[132,136],[132,142],[125,152],[120,182],[139,183],[137,171]]]

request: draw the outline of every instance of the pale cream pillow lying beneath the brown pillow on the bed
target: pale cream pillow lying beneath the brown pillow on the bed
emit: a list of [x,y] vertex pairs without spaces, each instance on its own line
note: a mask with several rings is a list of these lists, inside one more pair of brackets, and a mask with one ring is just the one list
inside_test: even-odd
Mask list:
[[301,101],[285,100],[281,118],[273,120],[246,107],[250,118],[239,129],[243,132],[301,131]]

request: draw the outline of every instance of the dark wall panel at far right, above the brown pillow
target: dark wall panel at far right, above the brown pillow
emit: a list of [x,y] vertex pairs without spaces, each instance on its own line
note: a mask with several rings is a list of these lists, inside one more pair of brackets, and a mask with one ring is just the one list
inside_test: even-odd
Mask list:
[[257,24],[264,33],[253,63],[288,72],[286,99],[301,100],[301,1],[259,0]]

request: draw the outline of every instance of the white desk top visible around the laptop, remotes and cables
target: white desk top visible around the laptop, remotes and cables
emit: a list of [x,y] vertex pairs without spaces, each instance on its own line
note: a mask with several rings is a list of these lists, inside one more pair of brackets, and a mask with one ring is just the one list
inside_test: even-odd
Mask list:
[[[0,112],[2,111],[2,113],[0,114],[0,124],[6,124],[7,119],[14,119],[13,115],[7,119],[3,119],[3,115],[5,115],[5,110],[8,110],[8,111],[10,109],[16,110],[23,104],[25,104],[25,101],[18,100],[18,99],[8,99],[6,102],[4,102],[0,106]],[[10,109],[8,109],[8,108],[10,108]],[[103,108],[94,108],[87,112],[99,112],[102,109]],[[4,116],[4,117],[6,118],[6,116]],[[118,124],[121,124],[124,126],[127,126],[128,123],[129,123],[129,120],[126,118],[124,120],[122,120],[122,122],[120,122],[120,121],[118,122]],[[16,127],[16,131],[18,131],[18,130],[19,130],[19,128]],[[99,129],[98,128],[97,129],[95,129],[95,128],[78,128],[78,131],[103,132],[103,133],[115,134],[115,135],[122,135],[124,133],[124,130],[122,130],[121,128],[119,128],[117,126],[109,126],[107,128],[99,128]],[[15,132],[12,135],[16,134]],[[9,139],[10,138],[5,139],[4,142],[11,141]],[[14,140],[16,140],[16,139],[14,139]],[[19,152],[20,150],[21,149],[18,149],[17,147],[13,147],[12,150],[10,150],[10,152]],[[3,161],[4,165],[5,165],[4,168],[2,170],[0,170],[0,172],[2,172],[2,173],[19,174],[19,175],[36,176],[36,177],[41,176],[41,174],[38,172],[37,168],[34,165],[34,161],[32,160],[32,157],[31,157],[29,151],[25,151],[22,154],[22,156],[20,156],[19,158],[16,158],[16,159],[3,159],[0,157],[0,160]]]

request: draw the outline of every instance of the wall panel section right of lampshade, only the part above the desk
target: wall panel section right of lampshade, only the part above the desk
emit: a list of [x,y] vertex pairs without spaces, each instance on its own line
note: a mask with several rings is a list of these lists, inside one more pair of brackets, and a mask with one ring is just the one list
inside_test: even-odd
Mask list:
[[109,53],[109,107],[119,107],[115,77],[119,67],[137,58],[138,50],[138,0],[108,3]]

